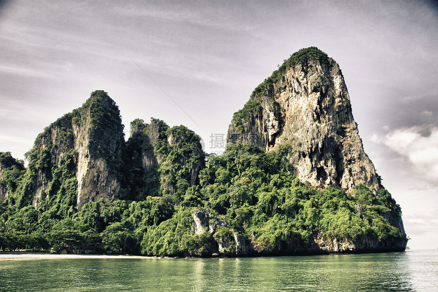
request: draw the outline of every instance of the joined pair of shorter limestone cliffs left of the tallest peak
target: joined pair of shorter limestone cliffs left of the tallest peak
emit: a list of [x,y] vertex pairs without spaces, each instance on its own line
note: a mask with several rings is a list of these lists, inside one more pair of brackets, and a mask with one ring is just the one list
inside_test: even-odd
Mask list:
[[[81,210],[100,199],[141,201],[166,194],[181,200],[198,183],[205,163],[199,136],[182,125],[170,128],[158,119],[150,124],[136,119],[125,143],[119,108],[102,90],[46,127],[26,157],[29,167],[22,174],[21,165],[16,173],[15,183],[18,175],[23,178],[20,189],[12,189],[11,201],[42,210]],[[2,182],[10,168],[6,158],[2,161],[0,199],[8,194]]]

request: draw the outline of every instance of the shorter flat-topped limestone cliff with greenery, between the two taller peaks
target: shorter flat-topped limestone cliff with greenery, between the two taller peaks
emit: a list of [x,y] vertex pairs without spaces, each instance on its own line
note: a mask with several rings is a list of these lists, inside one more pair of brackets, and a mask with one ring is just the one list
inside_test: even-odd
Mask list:
[[[169,127],[159,119],[149,124],[142,119],[131,122],[125,165],[131,179],[126,189],[131,199],[177,194],[198,183],[204,166],[200,138],[185,126]],[[129,181],[129,179],[127,180]]]

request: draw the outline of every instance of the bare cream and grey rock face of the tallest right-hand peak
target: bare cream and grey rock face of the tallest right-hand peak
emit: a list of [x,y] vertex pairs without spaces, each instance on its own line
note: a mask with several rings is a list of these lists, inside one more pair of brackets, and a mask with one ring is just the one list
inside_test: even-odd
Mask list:
[[252,143],[266,151],[289,144],[294,149],[289,159],[301,181],[348,191],[362,183],[375,194],[379,191],[344,78],[332,58],[310,54],[283,65],[235,114],[227,143]]

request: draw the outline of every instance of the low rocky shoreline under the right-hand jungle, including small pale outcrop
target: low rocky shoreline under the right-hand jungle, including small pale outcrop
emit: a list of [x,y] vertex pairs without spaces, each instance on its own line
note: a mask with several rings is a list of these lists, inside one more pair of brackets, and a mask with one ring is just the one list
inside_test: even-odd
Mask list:
[[[343,236],[334,238],[323,231],[314,232],[310,242],[290,236],[272,245],[266,245],[231,230],[228,223],[209,209],[196,208],[192,211],[191,230],[200,235],[208,233],[214,242],[211,243],[202,256],[261,256],[261,255],[297,255],[326,253],[355,253],[377,251],[403,251],[406,242],[389,237],[377,239],[370,236],[359,236],[351,239]],[[403,230],[404,234],[404,230]],[[200,254],[195,254],[199,256]]]

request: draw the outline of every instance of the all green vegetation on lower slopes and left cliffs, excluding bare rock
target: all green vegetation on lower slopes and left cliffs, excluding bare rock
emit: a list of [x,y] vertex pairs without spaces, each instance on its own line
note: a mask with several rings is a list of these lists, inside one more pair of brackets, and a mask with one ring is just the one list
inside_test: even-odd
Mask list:
[[[253,100],[240,114],[258,106]],[[87,119],[90,155],[105,158],[120,190],[119,200],[87,202],[78,210],[80,153],[73,150],[78,134],[72,129]],[[59,135],[52,137],[54,128]],[[405,240],[391,219],[400,207],[387,190],[382,187],[378,196],[364,185],[353,194],[334,186],[316,190],[294,176],[288,156],[295,146],[265,153],[236,144],[221,156],[207,156],[200,137],[182,125],[136,119],[129,140],[117,144],[122,128],[115,103],[96,91],[38,136],[26,153],[27,168],[0,152],[0,249],[209,256],[216,241],[234,233],[267,254],[309,250],[318,236],[338,242]],[[212,212],[210,223],[221,218],[227,225],[195,234],[192,214],[198,209]]]

